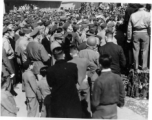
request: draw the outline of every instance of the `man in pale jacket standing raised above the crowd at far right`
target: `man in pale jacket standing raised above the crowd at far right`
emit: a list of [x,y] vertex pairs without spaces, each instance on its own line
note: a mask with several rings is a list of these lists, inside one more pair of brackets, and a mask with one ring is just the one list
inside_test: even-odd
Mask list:
[[[148,62],[148,49],[149,49],[149,34],[151,15],[145,10],[144,4],[138,5],[137,12],[130,16],[128,23],[127,42],[133,43],[133,56],[134,56],[134,69],[138,71],[139,59],[141,59],[141,69],[146,70]],[[133,32],[132,32],[133,31]],[[132,40],[133,38],[133,40]],[[132,41],[131,41],[132,40]],[[141,51],[141,58],[139,53]]]

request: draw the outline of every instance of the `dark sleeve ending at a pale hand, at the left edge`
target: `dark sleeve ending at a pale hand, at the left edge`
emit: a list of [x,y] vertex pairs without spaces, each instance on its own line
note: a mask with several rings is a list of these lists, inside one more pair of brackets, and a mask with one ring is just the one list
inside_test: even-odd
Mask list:
[[6,67],[6,69],[7,69],[11,74],[13,74],[13,73],[14,73],[14,70],[13,70],[13,68],[12,68],[12,66],[11,66],[10,61],[9,61],[8,58],[7,58],[5,49],[3,49],[2,60],[3,60],[4,66]]

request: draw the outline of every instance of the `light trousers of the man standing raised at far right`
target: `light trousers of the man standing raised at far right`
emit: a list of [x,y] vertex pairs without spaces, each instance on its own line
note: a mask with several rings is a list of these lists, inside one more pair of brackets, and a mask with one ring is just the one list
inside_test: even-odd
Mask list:
[[[139,66],[139,60],[141,60],[142,69],[147,68],[148,63],[148,50],[149,50],[149,35],[147,32],[134,32],[133,33],[133,58],[134,69],[137,70]],[[141,57],[139,58],[139,53]]]

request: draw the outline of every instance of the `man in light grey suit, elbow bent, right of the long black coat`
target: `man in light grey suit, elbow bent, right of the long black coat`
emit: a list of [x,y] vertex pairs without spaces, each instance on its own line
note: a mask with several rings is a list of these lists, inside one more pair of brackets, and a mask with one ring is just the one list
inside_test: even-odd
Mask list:
[[[70,55],[73,59],[69,62],[75,63],[78,68],[78,91],[80,100],[82,102],[87,102],[87,106],[83,108],[87,109],[86,117],[91,117],[90,86],[88,84],[87,77],[92,77],[92,75],[95,73],[95,70],[97,69],[97,66],[93,62],[90,62],[87,58],[79,58],[76,45],[70,46]],[[88,112],[90,115],[87,115]]]

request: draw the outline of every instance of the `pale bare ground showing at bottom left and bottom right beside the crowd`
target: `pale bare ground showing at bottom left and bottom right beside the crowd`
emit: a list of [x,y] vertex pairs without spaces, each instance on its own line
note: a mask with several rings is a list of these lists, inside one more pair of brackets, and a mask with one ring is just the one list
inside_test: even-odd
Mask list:
[[[17,86],[15,91],[18,96],[15,97],[17,107],[20,108],[17,116],[26,117],[26,105],[25,93],[22,92],[21,84]],[[147,100],[135,100],[133,98],[126,97],[126,104],[122,108],[118,108],[118,119],[123,120],[147,120],[148,115],[148,101]]]

